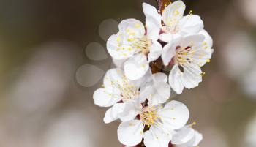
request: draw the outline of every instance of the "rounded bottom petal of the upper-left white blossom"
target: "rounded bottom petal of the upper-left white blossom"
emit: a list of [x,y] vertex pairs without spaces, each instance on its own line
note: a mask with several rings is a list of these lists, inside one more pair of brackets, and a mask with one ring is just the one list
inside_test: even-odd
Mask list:
[[124,74],[130,80],[138,80],[148,71],[149,65],[146,56],[138,54],[124,63]]

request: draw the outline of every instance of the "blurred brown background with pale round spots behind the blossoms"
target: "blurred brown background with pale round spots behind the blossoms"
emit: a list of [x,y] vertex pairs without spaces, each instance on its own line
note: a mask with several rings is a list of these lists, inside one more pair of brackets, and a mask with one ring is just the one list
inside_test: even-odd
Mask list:
[[[113,67],[105,41],[142,0],[0,0],[0,146],[121,146],[92,94]],[[156,5],[154,0],[147,0]],[[256,0],[187,0],[214,39],[203,83],[175,99],[201,147],[256,146]],[[187,14],[186,12],[186,14]]]

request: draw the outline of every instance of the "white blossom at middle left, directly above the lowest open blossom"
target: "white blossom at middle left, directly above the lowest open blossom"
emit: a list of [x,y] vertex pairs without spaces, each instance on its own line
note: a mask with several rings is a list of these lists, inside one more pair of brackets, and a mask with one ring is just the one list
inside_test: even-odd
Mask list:
[[140,102],[146,99],[150,103],[160,104],[170,97],[170,86],[165,74],[148,73],[141,80],[129,80],[123,70],[110,69],[103,80],[104,88],[94,91],[94,103],[101,107],[110,107],[105,113],[105,123],[120,118],[128,121],[140,113]]

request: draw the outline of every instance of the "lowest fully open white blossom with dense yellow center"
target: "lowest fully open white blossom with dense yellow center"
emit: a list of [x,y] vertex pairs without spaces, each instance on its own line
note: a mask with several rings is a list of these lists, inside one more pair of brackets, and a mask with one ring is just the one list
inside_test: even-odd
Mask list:
[[184,127],[188,118],[189,110],[181,102],[173,100],[163,108],[148,105],[141,108],[139,119],[121,122],[118,140],[126,146],[135,146],[144,138],[147,147],[168,146],[174,130]]

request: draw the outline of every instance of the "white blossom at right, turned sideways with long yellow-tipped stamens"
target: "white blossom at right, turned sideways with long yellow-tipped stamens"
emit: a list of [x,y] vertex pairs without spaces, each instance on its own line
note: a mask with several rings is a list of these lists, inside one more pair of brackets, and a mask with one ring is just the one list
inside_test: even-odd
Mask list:
[[206,62],[211,59],[212,39],[206,31],[200,34],[179,37],[165,45],[162,61],[165,66],[173,66],[169,74],[169,84],[181,94],[183,89],[195,88],[202,81],[201,71]]

